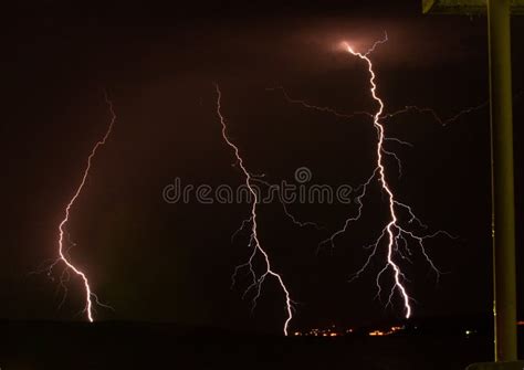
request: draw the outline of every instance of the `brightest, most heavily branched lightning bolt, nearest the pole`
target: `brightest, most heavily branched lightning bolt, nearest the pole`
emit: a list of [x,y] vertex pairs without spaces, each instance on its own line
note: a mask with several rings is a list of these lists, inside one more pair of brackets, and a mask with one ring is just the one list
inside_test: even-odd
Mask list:
[[385,265],[379,271],[376,277],[377,297],[380,298],[381,290],[382,290],[381,285],[380,285],[380,278],[387,271],[390,271],[392,273],[394,284],[389,293],[389,297],[388,297],[388,302],[386,306],[390,305],[392,303],[392,298],[395,294],[398,294],[404,303],[405,317],[409,318],[412,314],[412,307],[410,305],[410,302],[412,300],[412,298],[408,294],[408,289],[406,286],[406,282],[408,282],[408,279],[401,269],[399,261],[407,261],[411,263],[410,256],[412,252],[409,247],[409,244],[415,243],[420,249],[420,252],[422,256],[425,257],[426,262],[428,263],[428,265],[437,274],[437,281],[438,281],[442,272],[438,269],[436,264],[430,258],[425,247],[425,240],[436,237],[438,235],[446,235],[451,239],[455,239],[455,237],[449,234],[448,232],[441,231],[441,230],[434,233],[426,233],[426,234],[419,235],[418,233],[409,230],[408,226],[405,225],[406,221],[402,221],[402,220],[407,219],[407,224],[409,225],[416,223],[421,229],[428,229],[428,226],[423,224],[419,218],[416,216],[411,207],[398,201],[397,198],[395,197],[394,190],[388,183],[387,169],[384,161],[385,155],[391,156],[397,160],[400,173],[401,173],[401,162],[395,152],[387,150],[385,148],[385,144],[387,141],[395,141],[397,144],[408,145],[408,146],[411,146],[411,144],[398,138],[386,136],[385,127],[382,123],[387,119],[397,117],[399,115],[404,115],[407,113],[417,113],[417,114],[429,114],[437,123],[439,123],[442,126],[446,126],[448,124],[457,121],[463,115],[482,109],[483,107],[488,105],[488,102],[484,102],[478,106],[462,109],[448,119],[441,118],[434,109],[420,108],[418,106],[406,106],[405,108],[399,109],[397,112],[385,113],[385,103],[377,93],[376,74],[374,71],[373,61],[369,55],[375,51],[375,49],[378,45],[387,41],[388,41],[388,38],[387,38],[387,34],[385,34],[385,38],[375,42],[374,45],[366,53],[357,52],[348,43],[344,43],[345,51],[352,54],[353,56],[356,56],[359,60],[361,60],[367,66],[367,71],[369,73],[369,93],[373,99],[377,104],[377,109],[374,113],[369,113],[369,112],[355,112],[350,114],[339,113],[331,107],[316,106],[302,99],[292,98],[282,86],[268,88],[268,89],[281,91],[284,98],[291,104],[301,105],[304,108],[314,109],[321,113],[332,114],[338,118],[350,119],[356,116],[367,116],[373,119],[373,125],[377,131],[376,167],[371,176],[364,183],[361,183],[360,186],[356,188],[357,195],[355,197],[355,203],[357,205],[357,210],[356,210],[355,215],[346,219],[343,228],[335,231],[325,241],[321,242],[318,247],[321,247],[324,244],[331,244],[332,246],[334,246],[335,239],[344,234],[348,230],[352,223],[360,219],[363,208],[364,208],[363,200],[366,197],[367,189],[371,186],[374,181],[377,181],[380,186],[382,193],[387,195],[388,222],[386,226],[381,230],[378,239],[374,243],[365,247],[366,250],[369,250],[370,253],[368,254],[368,257],[365,261],[364,265],[355,274],[353,274],[353,277],[350,278],[350,281],[358,278],[367,269],[371,260],[376,256],[381,245],[385,244],[386,245]]

